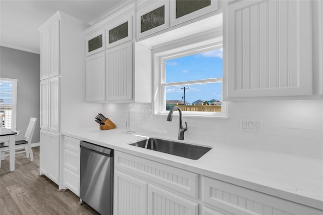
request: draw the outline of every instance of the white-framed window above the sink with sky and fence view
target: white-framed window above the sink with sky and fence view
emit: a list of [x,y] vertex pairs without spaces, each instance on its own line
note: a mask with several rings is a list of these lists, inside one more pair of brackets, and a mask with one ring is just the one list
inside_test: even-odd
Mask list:
[[222,46],[160,57],[160,112],[178,105],[184,115],[226,117]]

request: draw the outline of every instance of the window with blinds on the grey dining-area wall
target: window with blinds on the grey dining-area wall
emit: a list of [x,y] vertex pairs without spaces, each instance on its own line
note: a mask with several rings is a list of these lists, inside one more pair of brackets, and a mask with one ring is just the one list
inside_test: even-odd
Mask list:
[[16,129],[17,79],[0,78],[1,128]]

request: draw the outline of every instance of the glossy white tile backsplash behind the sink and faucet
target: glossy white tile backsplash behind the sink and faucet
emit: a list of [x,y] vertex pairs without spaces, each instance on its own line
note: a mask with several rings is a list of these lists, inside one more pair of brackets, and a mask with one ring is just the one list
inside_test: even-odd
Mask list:
[[[167,122],[166,115],[153,115],[151,103],[104,104],[104,113],[119,128],[126,129],[131,112],[131,130],[178,135],[178,116]],[[188,118],[188,140],[210,144],[223,142],[244,148],[323,159],[323,101],[228,102],[228,118]],[[240,130],[240,119],[262,121],[262,133]]]

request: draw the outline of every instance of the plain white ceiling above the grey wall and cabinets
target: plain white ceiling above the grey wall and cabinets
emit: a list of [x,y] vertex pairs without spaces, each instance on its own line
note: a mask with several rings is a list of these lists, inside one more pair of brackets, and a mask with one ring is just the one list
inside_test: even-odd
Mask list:
[[123,1],[129,0],[0,0],[0,45],[40,53],[40,34],[37,29],[58,10],[91,23]]

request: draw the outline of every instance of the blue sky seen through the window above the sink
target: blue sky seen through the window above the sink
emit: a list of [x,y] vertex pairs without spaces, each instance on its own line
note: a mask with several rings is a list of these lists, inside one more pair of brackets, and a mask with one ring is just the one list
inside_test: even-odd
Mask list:
[[[223,77],[222,49],[197,53],[166,61],[166,83]],[[166,88],[166,100],[183,100],[183,86]],[[185,101],[222,100],[222,84],[187,85]]]

